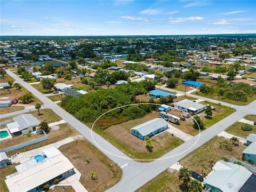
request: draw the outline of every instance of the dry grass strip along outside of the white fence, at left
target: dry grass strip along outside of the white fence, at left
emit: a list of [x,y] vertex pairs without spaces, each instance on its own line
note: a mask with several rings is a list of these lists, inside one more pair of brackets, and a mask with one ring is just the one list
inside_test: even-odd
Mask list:
[[35,143],[33,145],[30,145],[30,146],[26,146],[26,147],[23,147],[23,148],[20,148],[20,149],[17,149],[17,150],[10,151],[10,152],[6,153],[6,155],[7,156],[14,155],[17,152],[22,153],[22,152],[25,152],[25,151],[29,151],[29,150],[39,148],[39,147],[50,145],[51,143],[60,141],[62,139],[65,139],[67,137],[71,137],[71,136],[74,136],[74,135],[77,134],[76,130],[73,127],[71,127],[68,123],[63,123],[63,124],[60,124],[58,126],[60,126],[59,130],[52,131],[52,132],[47,134],[48,135],[47,140]]

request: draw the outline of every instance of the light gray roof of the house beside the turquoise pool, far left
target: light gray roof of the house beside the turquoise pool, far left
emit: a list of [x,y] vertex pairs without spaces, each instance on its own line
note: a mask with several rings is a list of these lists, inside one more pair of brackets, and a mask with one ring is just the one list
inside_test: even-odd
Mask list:
[[37,126],[40,124],[38,119],[31,114],[18,115],[13,117],[13,121],[18,123],[20,131],[27,129],[30,126]]

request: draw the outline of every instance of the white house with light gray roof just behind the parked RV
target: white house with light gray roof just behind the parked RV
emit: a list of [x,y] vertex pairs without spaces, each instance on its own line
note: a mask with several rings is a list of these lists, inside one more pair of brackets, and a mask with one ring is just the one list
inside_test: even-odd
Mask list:
[[200,113],[205,109],[205,105],[202,105],[201,103],[196,103],[193,101],[190,101],[188,99],[181,100],[179,102],[174,103],[174,108],[175,109],[180,109],[186,113],[191,113],[191,114],[197,114]]

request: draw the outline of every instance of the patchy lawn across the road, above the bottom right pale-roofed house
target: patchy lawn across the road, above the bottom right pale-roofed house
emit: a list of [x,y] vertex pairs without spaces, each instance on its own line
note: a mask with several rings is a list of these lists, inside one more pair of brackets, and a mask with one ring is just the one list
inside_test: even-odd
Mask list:
[[237,147],[232,147],[232,150],[226,150],[220,148],[219,143],[223,141],[228,141],[229,139],[225,139],[223,137],[214,137],[210,141],[206,142],[203,146],[197,148],[186,157],[182,158],[179,162],[182,166],[188,167],[188,169],[193,170],[199,174],[202,171],[202,164],[205,164],[207,170],[204,170],[204,173],[208,174],[211,172],[209,167],[209,160],[213,160],[213,164],[220,160],[221,157],[227,157],[231,159],[232,157],[241,159],[242,151],[245,149],[241,143]]

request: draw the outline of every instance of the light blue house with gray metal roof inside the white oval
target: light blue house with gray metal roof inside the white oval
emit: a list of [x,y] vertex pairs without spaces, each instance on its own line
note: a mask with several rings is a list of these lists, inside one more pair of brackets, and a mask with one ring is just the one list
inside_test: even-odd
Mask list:
[[152,137],[166,129],[168,129],[168,122],[163,118],[154,118],[146,123],[133,127],[131,131],[134,136],[145,140],[146,137]]

